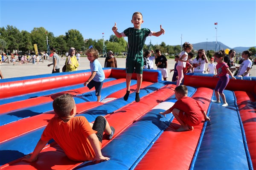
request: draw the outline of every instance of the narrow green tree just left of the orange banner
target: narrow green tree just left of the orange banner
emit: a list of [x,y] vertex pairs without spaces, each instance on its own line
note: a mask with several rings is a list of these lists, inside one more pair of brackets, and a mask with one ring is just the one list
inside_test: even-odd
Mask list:
[[32,39],[31,39],[30,33],[28,31],[22,30],[20,34],[21,34],[20,50],[23,52],[32,51],[33,45],[32,45]]

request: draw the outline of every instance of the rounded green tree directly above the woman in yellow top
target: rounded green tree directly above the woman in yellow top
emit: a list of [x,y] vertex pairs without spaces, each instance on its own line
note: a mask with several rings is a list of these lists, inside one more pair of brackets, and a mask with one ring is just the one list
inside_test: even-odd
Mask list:
[[70,29],[66,32],[65,40],[67,42],[68,48],[76,48],[76,50],[80,51],[82,46],[84,46],[84,37],[82,34],[76,29]]

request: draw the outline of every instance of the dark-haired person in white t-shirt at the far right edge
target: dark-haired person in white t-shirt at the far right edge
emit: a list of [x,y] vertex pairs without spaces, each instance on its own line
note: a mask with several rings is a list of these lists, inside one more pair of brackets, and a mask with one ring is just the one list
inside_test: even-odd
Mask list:
[[250,76],[250,70],[252,67],[252,52],[251,51],[243,51],[242,52],[242,57],[244,59],[244,61],[241,63],[241,65],[239,67],[238,72],[237,72],[237,77],[248,77]]

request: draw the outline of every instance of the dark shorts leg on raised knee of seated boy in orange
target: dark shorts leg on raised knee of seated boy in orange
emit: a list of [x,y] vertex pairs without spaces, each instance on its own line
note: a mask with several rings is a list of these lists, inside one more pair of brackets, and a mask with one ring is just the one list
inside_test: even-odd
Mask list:
[[103,116],[96,117],[94,123],[93,123],[93,130],[96,130],[96,136],[99,139],[99,142],[102,142],[102,137],[104,130],[106,128],[107,120]]

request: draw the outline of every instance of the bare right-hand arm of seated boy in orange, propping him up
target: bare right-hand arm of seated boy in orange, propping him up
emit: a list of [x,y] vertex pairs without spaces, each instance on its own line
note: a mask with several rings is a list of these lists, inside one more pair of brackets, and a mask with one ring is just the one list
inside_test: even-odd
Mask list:
[[93,133],[90,136],[88,136],[88,140],[90,141],[90,144],[93,147],[93,150],[94,150],[94,153],[95,153],[95,157],[93,159],[94,160],[106,160],[106,161],[108,161],[109,158],[102,155],[101,148],[100,148],[100,145],[99,145],[99,139],[96,136],[96,134]]

